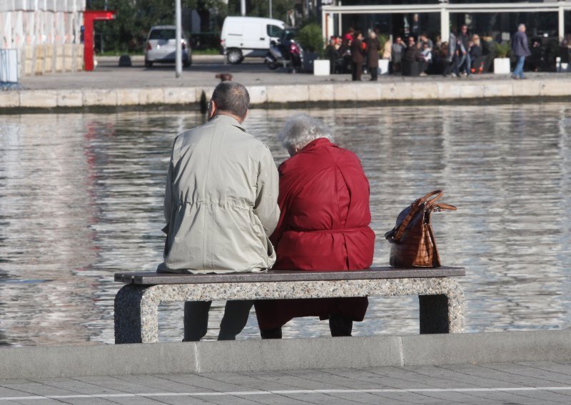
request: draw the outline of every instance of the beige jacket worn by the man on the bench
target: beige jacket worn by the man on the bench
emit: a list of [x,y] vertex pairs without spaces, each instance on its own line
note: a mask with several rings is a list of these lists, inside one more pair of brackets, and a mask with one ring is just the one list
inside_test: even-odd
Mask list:
[[270,150],[231,116],[176,137],[166,180],[158,272],[245,272],[276,261],[278,170]]

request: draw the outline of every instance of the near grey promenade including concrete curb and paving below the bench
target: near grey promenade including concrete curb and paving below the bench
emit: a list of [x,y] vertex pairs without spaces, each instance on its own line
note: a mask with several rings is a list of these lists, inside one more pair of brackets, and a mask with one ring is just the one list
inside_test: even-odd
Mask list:
[[0,349],[0,404],[569,404],[571,332]]

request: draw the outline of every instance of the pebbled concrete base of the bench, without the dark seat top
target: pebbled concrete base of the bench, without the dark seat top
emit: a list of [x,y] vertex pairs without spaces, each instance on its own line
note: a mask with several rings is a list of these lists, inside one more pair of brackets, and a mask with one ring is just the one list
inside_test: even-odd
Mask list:
[[123,286],[115,297],[115,342],[158,342],[161,302],[418,295],[420,333],[463,332],[465,298],[450,277]]

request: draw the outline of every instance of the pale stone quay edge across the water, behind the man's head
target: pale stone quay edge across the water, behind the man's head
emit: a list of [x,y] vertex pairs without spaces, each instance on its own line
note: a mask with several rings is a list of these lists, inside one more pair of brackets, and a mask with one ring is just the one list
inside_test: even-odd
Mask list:
[[[248,86],[253,106],[285,103],[347,103],[391,101],[453,101],[511,98],[571,99],[571,78],[540,78],[526,81],[445,81],[328,83],[288,86]],[[0,106],[11,109],[54,109],[90,107],[133,107],[158,105],[199,106],[203,93],[211,97],[213,87],[106,88],[77,90],[22,90],[0,92]]]

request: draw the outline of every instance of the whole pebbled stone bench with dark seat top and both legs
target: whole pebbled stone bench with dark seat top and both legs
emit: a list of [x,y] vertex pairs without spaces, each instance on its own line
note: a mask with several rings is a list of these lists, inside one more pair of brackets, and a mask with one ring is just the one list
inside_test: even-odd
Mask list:
[[464,292],[453,277],[460,267],[371,267],[340,272],[270,270],[256,273],[116,273],[126,283],[115,297],[115,343],[158,341],[161,302],[418,295],[420,333],[463,332]]

